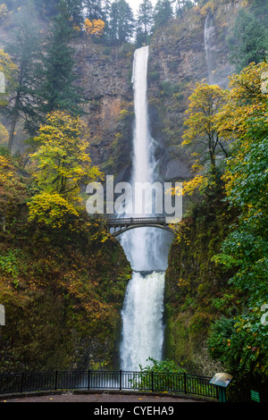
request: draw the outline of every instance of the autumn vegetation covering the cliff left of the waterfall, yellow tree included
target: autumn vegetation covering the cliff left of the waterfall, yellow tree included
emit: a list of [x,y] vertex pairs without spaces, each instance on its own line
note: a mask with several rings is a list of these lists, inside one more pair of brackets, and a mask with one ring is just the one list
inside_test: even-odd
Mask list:
[[49,115],[26,170],[0,156],[2,372],[117,363],[130,265],[81,195],[100,175],[85,153],[83,124]]

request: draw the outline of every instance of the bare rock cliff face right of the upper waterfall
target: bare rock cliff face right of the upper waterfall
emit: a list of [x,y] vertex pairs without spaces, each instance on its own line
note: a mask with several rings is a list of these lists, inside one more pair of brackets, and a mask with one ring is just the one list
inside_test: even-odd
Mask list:
[[[154,137],[162,146],[159,170],[164,180],[183,181],[191,176],[190,156],[180,147],[188,96],[197,81],[228,87],[233,69],[227,39],[240,3],[219,1],[213,11],[194,7],[183,19],[158,30],[151,41],[149,103]],[[205,34],[207,17],[213,30]],[[205,35],[212,43],[209,56]],[[207,58],[213,65],[211,78]]]

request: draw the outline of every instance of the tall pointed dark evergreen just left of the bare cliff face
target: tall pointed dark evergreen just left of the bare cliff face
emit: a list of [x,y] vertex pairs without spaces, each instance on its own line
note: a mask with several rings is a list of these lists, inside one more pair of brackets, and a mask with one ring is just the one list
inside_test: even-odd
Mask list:
[[54,16],[53,25],[46,38],[43,55],[43,80],[39,89],[42,115],[54,110],[65,110],[71,115],[81,113],[79,88],[74,86],[74,51],[70,46],[74,37],[66,5]]

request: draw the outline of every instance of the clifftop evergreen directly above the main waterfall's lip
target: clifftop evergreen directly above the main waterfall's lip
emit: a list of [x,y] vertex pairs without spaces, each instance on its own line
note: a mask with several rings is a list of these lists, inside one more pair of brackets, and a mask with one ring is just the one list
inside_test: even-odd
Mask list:
[[147,37],[151,34],[154,22],[153,5],[150,0],[143,0],[138,8],[137,45],[147,44]]

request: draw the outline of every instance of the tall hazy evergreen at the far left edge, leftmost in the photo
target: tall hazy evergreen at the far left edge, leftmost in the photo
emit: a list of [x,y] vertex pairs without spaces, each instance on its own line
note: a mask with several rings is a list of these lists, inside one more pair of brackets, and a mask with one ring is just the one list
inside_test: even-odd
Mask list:
[[[29,14],[31,20],[29,21]],[[13,147],[13,137],[17,122],[24,120],[25,130],[32,134],[36,130],[38,104],[38,60],[40,37],[34,19],[34,10],[21,8],[13,15],[14,30],[5,51],[12,58],[18,71],[14,78],[13,94],[2,112],[11,121],[9,149]]]

